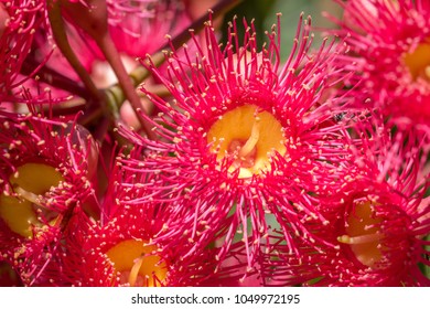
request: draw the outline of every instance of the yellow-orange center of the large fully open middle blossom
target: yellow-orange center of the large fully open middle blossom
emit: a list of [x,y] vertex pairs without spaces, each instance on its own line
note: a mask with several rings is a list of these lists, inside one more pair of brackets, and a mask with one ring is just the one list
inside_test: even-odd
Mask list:
[[229,172],[239,169],[239,178],[249,178],[270,169],[275,151],[287,152],[281,124],[255,105],[237,107],[224,114],[207,132],[211,150],[217,159],[234,159]]

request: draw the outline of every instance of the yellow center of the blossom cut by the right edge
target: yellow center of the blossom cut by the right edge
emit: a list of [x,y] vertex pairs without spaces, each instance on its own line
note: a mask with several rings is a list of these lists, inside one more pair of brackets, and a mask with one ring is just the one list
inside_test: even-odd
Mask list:
[[430,43],[421,43],[415,51],[407,53],[405,64],[413,79],[421,77],[430,82]]

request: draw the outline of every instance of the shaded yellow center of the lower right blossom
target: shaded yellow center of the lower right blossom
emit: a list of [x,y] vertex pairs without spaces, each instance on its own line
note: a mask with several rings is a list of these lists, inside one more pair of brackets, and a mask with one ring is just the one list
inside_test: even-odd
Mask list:
[[337,241],[350,245],[355,257],[368,267],[383,258],[383,238],[378,225],[381,220],[375,217],[375,211],[370,202],[361,202],[346,220],[346,235],[337,237]]

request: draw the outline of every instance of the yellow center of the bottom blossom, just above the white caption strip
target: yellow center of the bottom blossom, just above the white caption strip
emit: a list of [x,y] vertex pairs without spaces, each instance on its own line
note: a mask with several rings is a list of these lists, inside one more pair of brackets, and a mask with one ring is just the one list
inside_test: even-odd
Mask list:
[[128,283],[131,287],[153,287],[155,277],[162,283],[168,275],[165,263],[157,255],[157,246],[141,241],[120,242],[106,255],[114,263],[115,270],[120,273],[121,284]]

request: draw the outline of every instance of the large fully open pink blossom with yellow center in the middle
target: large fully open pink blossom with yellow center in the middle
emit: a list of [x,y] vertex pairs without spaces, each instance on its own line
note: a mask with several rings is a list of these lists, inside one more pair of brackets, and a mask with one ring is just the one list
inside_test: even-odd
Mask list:
[[120,132],[146,148],[144,158],[128,163],[136,173],[154,175],[142,183],[144,199],[171,209],[154,242],[187,248],[184,259],[215,244],[221,263],[241,243],[252,273],[275,227],[291,252],[292,235],[316,241],[303,222],[326,224],[312,195],[331,190],[342,169],[343,140],[351,138],[334,119],[345,111],[344,97],[332,88],[340,83],[336,57],[344,46],[323,45],[311,54],[309,24],[300,20],[281,66],[277,30],[258,51],[254,25],[245,28],[239,44],[234,21],[223,47],[207,22],[205,41],[192,40],[197,54],[185,46],[185,57],[168,55],[168,77],[149,62],[174,98],[169,103],[143,89],[161,110],[153,121],[159,140]]

